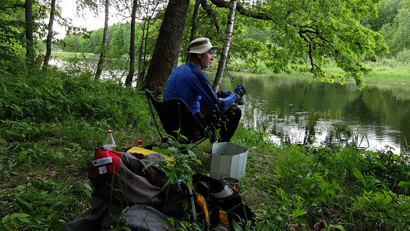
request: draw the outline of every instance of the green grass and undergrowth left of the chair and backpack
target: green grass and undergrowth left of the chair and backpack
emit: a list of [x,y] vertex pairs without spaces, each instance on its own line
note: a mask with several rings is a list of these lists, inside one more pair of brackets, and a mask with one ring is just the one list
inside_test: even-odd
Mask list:
[[0,229],[56,230],[90,207],[88,166],[108,129],[119,150],[152,136],[146,98],[87,72],[0,75]]

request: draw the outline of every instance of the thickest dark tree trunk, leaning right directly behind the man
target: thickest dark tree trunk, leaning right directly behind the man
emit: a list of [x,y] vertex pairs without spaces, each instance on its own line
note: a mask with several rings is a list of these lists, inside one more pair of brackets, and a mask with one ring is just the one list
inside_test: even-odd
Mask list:
[[178,64],[182,32],[189,0],[170,0],[165,11],[157,43],[146,75],[145,87],[159,94],[168,76]]

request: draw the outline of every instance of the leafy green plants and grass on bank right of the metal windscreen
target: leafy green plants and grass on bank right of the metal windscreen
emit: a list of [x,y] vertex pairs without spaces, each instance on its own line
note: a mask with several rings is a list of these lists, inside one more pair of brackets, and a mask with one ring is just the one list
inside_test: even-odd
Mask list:
[[320,221],[340,230],[409,228],[409,191],[398,186],[410,180],[405,155],[282,145],[249,162],[241,186],[256,204],[257,230],[312,230]]

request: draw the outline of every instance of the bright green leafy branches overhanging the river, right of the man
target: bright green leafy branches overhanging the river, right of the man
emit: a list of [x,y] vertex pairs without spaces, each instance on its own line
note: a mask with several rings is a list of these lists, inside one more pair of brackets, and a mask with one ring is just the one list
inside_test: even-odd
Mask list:
[[[217,7],[227,7],[224,1],[211,2]],[[244,60],[251,67],[257,67],[262,61],[276,73],[293,69],[311,72],[322,80],[333,82],[340,78],[343,82],[344,76],[326,71],[326,65],[334,63],[350,73],[357,86],[362,88],[361,75],[370,69],[361,61],[377,61],[376,54],[387,51],[382,36],[360,24],[365,17],[377,16],[379,0],[246,2],[242,8],[237,7],[239,14],[230,55]],[[220,14],[222,11],[215,8],[214,12],[223,25],[227,14]],[[255,41],[242,36],[244,28],[253,27],[269,34],[269,40]],[[202,29],[206,27],[202,26]],[[210,34],[209,31],[199,33],[199,36]],[[216,44],[220,43],[220,37],[213,37]],[[259,71],[258,68],[253,70]]]

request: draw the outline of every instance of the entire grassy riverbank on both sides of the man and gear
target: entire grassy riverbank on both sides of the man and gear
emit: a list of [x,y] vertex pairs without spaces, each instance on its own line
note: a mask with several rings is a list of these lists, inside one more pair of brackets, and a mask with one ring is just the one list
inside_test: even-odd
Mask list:
[[[159,141],[142,92],[90,79],[0,72],[0,229],[56,230],[86,211],[88,166],[108,129],[119,150]],[[232,140],[250,150],[240,190],[257,214],[255,230],[410,228],[405,157],[355,145],[279,147],[267,136],[240,127]],[[210,152],[208,142],[196,148],[203,164],[191,167],[209,173]]]

